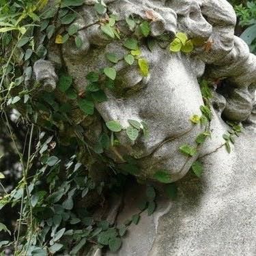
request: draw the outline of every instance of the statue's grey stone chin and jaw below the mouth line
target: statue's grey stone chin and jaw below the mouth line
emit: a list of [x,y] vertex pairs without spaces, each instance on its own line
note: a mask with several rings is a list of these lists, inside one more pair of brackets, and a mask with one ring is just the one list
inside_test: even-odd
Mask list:
[[[161,143],[158,143],[157,146],[154,145],[154,148],[141,147],[139,149],[139,147],[135,145],[131,145],[130,147],[114,147],[109,157],[122,167],[122,165],[128,163],[126,158],[122,158],[122,156],[127,156],[127,152],[130,150],[132,154],[129,155],[134,156],[135,165],[138,167],[138,170],[135,170],[134,173],[133,170],[131,170],[132,174],[143,180],[157,181],[156,173],[160,172],[165,173],[169,182],[175,182],[188,173],[200,152],[200,148],[198,148],[198,152],[194,156],[186,156],[180,152],[180,147],[182,145],[197,147],[195,138],[199,132],[201,132],[199,126],[193,126],[186,134],[182,134],[180,137],[176,138],[165,139]],[[142,144],[143,143],[141,143],[141,145]],[[144,144],[144,146],[145,145],[146,144]],[[134,150],[134,148],[136,150]]]

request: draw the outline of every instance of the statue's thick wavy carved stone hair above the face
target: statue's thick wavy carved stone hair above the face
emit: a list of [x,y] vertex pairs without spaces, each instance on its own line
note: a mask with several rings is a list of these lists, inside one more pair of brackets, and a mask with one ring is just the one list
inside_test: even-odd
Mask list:
[[[94,0],[86,0],[81,8],[81,16],[76,20],[83,46],[78,50],[70,44],[63,46],[63,53],[83,55],[91,45],[104,46],[110,42],[98,24],[94,10]],[[196,49],[191,57],[205,63],[205,75],[209,79],[225,79],[227,100],[222,108],[227,119],[244,121],[253,109],[253,94],[256,84],[256,57],[248,51],[248,46],[234,35],[236,14],[226,0],[105,0],[109,12],[117,14],[122,22],[129,16],[140,16],[150,20],[151,36],[162,33],[175,35],[177,31],[190,38],[203,38],[211,47]],[[127,31],[124,29],[124,33]],[[129,33],[129,32],[127,32]],[[222,91],[221,91],[222,93]]]

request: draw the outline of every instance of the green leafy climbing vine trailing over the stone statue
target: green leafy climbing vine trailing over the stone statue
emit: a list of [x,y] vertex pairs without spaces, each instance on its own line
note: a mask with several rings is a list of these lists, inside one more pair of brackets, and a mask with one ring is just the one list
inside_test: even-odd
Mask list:
[[[94,12],[102,35],[121,43],[126,53],[122,57],[106,53],[108,65],[90,70],[85,76],[84,91],[76,91],[74,78],[63,67],[57,70],[57,93],[51,88],[43,91],[42,85],[33,80],[32,66],[38,59],[47,57],[46,45],[49,42],[61,46],[73,40],[77,49],[83,46],[80,28],[73,23],[80,16],[79,8],[83,3],[83,0],[61,0],[51,5],[48,0],[0,1],[1,121],[3,131],[12,141],[10,152],[15,152],[20,169],[20,179],[11,189],[5,189],[7,172],[0,173],[3,188],[0,210],[12,207],[18,212],[13,228],[1,220],[0,232],[7,234],[0,241],[1,255],[7,248],[11,248],[14,255],[40,256],[55,253],[78,255],[81,251],[85,253],[90,246],[117,251],[128,226],[139,223],[141,212],[147,211],[151,215],[156,209],[156,189],[147,184],[138,214],[130,216],[122,225],[106,221],[104,214],[100,218],[94,216],[96,205],[104,207],[105,197],[122,193],[128,175],[136,176],[140,171],[137,160],[131,156],[123,156],[125,163],[117,167],[104,156],[104,150],[119,145],[118,132],[125,130],[128,139],[136,141],[139,136],[148,139],[150,127],[135,119],[128,119],[128,127],[123,127],[119,120],[110,120],[103,125],[98,142],[91,146],[83,137],[83,127],[72,121],[72,108],[75,105],[76,110],[88,119],[95,117],[95,105],[108,100],[104,87],[118,89],[115,64],[119,61],[136,66],[141,76],[149,76],[150,63],[143,57],[142,42],[152,51],[158,41],[165,41],[170,55],[189,55],[197,45],[182,31],[173,38],[165,34],[152,38],[150,23],[155,17],[150,12],[145,14],[145,20],[137,16],[126,17],[130,33],[121,33],[119,17],[98,1]],[[188,122],[193,126],[203,126],[204,131],[195,138],[196,146],[180,145],[180,154],[188,160],[210,137],[212,94],[206,81],[202,81],[201,91],[204,100],[201,116],[193,115]],[[59,95],[65,98],[65,102],[59,100]],[[22,126],[25,136],[18,137],[14,126]],[[239,132],[238,127],[233,126],[229,137],[224,138],[226,141],[232,142],[232,132]],[[104,163],[107,182],[95,178],[95,173],[89,173],[87,166],[94,157],[99,165]],[[192,169],[195,175],[201,175],[200,162],[194,162]],[[102,173],[98,171],[96,176],[100,175]],[[156,170],[154,177],[167,184],[167,195],[174,199],[177,188],[171,183],[173,180],[167,171]]]

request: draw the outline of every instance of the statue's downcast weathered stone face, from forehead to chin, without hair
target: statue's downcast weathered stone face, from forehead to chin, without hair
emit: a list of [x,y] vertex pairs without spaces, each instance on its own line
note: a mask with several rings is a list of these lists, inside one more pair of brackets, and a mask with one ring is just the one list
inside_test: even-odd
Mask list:
[[[76,85],[85,85],[87,73],[111,66],[105,53],[120,57],[126,49],[113,42],[104,48],[94,48],[84,56],[66,55],[66,65]],[[119,121],[124,128],[128,119],[147,123],[150,137],[143,134],[137,141],[130,141],[126,131],[115,133],[121,145],[106,154],[115,162],[122,162],[120,156],[130,154],[138,159],[141,176],[153,178],[158,170],[166,170],[173,180],[182,177],[195,158],[188,158],[179,152],[184,144],[195,145],[195,138],[201,128],[190,123],[192,115],[200,115],[203,104],[197,72],[189,57],[172,54],[158,46],[153,52],[142,48],[142,57],[150,63],[150,75],[141,76],[137,64],[129,66],[120,61],[115,65],[117,83],[115,89],[104,89],[108,100],[96,105],[104,119]],[[198,68],[198,66],[197,66]],[[196,157],[196,156],[195,156]]]

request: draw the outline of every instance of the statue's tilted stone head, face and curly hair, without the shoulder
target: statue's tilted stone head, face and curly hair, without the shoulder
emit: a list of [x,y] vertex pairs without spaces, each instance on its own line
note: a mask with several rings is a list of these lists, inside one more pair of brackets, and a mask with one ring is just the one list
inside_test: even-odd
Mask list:
[[[227,126],[222,122],[221,115],[238,122],[251,118],[256,57],[249,53],[248,46],[240,38],[233,35],[236,14],[225,0],[105,2],[109,12],[119,16],[117,23],[124,35],[130,36],[131,33],[124,25],[125,18],[133,15],[147,19],[147,12],[150,12],[153,16],[150,21],[153,38],[162,33],[169,33],[173,37],[177,31],[182,31],[190,38],[208,40],[211,44],[208,49],[205,49],[205,45],[197,46],[193,53],[187,55],[170,53],[162,43],[156,44],[153,51],[141,44],[141,57],[149,62],[150,75],[141,76],[136,64],[129,66],[124,60],[114,64],[118,85],[114,90],[104,88],[109,99],[96,104],[99,115],[91,126],[84,126],[83,113],[72,102],[74,113],[79,117],[72,118],[76,124],[90,130],[85,132],[85,137],[91,147],[102,132],[100,124],[104,122],[116,120],[124,128],[129,126],[128,119],[146,122],[150,127],[150,139],[139,136],[136,141],[130,141],[123,130],[116,133],[121,145],[106,150],[105,155],[117,164],[125,162],[123,156],[127,154],[137,158],[141,167],[139,177],[143,179],[154,179],[157,170],[166,170],[173,181],[179,180],[199,155],[208,152],[209,148],[214,150],[221,143],[221,138],[217,139],[218,135],[215,134],[214,141],[218,142],[202,147],[199,154],[192,158],[188,159],[179,152],[180,145],[195,146],[197,134],[204,129],[193,126],[189,121],[192,115],[201,114],[200,106],[203,105],[197,79],[203,74],[215,82],[225,79],[223,89],[216,89],[216,85],[213,88],[216,97],[212,102],[219,116],[216,129],[223,134]],[[115,53],[120,59],[128,53],[122,42],[111,40],[102,33],[94,3],[85,1],[80,10],[81,16],[74,21],[79,26],[78,33],[83,41],[81,48],[76,47],[74,40],[63,44],[61,51],[49,44],[48,59],[57,61],[59,66],[56,56],[61,53],[62,65],[74,78],[79,95],[85,93],[85,76],[89,72],[109,66],[106,53]],[[46,61],[35,63],[37,80],[41,83],[45,83],[46,79],[51,80],[50,87],[54,89],[56,79],[51,68],[42,81],[37,71],[40,65],[44,69]],[[48,66],[51,67],[51,64]]]

